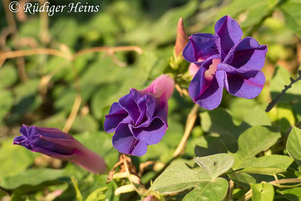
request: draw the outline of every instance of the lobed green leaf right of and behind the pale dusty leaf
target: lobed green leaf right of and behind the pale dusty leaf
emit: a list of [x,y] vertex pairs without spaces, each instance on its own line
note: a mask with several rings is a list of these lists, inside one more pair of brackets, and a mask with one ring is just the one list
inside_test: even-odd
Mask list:
[[239,150],[235,154],[230,153],[235,158],[232,168],[237,172],[230,173],[229,177],[246,188],[250,187],[250,183],[274,180],[271,174],[285,171],[293,162],[292,158],[282,155],[257,158],[255,155],[274,145],[280,137],[273,127],[256,126],[246,130],[239,137]]

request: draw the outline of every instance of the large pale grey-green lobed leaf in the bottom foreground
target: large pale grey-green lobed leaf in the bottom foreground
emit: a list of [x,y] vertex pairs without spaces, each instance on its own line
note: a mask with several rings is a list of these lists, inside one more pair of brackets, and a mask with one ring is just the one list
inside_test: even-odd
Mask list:
[[233,158],[229,154],[216,154],[195,158],[195,162],[201,169],[192,168],[186,160],[173,162],[154,181],[148,193],[171,194],[194,188],[183,200],[221,200],[227,193],[228,182],[218,176],[231,168]]

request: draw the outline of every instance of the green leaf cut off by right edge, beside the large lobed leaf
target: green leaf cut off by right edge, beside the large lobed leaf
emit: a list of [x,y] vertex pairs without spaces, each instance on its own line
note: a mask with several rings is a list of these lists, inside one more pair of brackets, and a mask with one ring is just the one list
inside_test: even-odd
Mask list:
[[286,150],[290,157],[301,166],[301,129],[292,127],[287,138]]

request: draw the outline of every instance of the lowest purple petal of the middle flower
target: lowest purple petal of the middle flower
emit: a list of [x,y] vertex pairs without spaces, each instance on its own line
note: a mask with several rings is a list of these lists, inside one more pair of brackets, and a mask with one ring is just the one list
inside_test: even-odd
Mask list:
[[135,156],[142,156],[147,151],[147,145],[134,138],[128,124],[119,124],[112,138],[113,146],[119,152]]

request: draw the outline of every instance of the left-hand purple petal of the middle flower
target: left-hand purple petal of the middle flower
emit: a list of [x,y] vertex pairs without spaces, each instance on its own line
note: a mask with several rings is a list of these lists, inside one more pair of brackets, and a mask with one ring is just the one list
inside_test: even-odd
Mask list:
[[106,120],[104,123],[104,129],[108,133],[113,133],[118,124],[128,116],[127,112],[120,107],[119,103],[113,103]]

